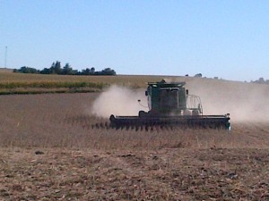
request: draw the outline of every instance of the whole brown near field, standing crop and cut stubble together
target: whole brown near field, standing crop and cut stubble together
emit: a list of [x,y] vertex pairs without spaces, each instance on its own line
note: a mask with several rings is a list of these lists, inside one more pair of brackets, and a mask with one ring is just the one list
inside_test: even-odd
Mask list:
[[269,200],[267,121],[97,130],[97,95],[0,96],[1,200]]

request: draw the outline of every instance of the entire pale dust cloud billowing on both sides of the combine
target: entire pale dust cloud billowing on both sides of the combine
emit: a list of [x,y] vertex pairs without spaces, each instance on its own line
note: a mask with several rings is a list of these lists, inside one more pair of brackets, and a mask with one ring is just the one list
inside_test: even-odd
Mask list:
[[[179,77],[165,79],[168,82],[186,81],[189,94],[200,96],[204,115],[230,113],[231,121],[269,121],[269,86],[228,80]],[[100,94],[92,107],[92,113],[100,117],[137,115],[147,111],[137,102],[147,106],[144,90],[112,86]]]

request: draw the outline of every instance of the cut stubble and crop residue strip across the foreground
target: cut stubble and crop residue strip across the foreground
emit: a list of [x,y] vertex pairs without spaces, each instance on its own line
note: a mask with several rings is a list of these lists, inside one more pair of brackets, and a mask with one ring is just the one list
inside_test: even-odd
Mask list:
[[[268,200],[268,150],[3,149],[4,200]],[[246,155],[247,152],[247,155]],[[23,169],[22,169],[23,167]]]

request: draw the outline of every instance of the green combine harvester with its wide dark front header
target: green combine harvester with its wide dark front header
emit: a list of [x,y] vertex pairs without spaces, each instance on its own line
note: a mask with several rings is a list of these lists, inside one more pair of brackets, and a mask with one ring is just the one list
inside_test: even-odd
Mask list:
[[189,95],[186,82],[149,82],[145,91],[149,112],[138,116],[111,115],[110,126],[116,129],[145,130],[155,127],[210,128],[230,130],[230,114],[203,115],[199,96]]

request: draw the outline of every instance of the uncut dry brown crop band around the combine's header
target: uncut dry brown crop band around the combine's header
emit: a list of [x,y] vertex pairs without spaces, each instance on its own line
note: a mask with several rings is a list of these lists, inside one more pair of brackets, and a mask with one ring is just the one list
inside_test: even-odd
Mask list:
[[[268,124],[234,123],[227,130],[106,130],[91,115],[97,94],[1,96],[2,147],[267,147]],[[254,143],[255,142],[255,143]]]

